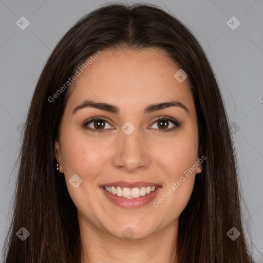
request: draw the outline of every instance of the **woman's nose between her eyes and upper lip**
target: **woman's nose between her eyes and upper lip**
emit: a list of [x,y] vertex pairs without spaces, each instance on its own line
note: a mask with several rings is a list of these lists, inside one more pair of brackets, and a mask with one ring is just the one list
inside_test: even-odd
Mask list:
[[130,135],[120,130],[120,138],[116,142],[113,165],[127,173],[136,173],[145,170],[152,159],[151,151],[139,129],[135,129]]

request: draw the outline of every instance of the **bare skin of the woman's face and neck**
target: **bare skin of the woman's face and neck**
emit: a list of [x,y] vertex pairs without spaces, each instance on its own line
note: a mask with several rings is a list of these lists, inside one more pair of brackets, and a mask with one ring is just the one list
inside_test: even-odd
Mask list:
[[[174,78],[178,69],[160,49],[102,51],[70,87],[55,152],[77,206],[82,262],[116,263],[124,258],[136,263],[171,262],[179,215],[190,199],[201,165],[158,208],[153,202],[142,208],[120,208],[99,186],[114,181],[156,183],[162,186],[156,201],[198,161],[194,101],[187,79],[179,83]],[[72,114],[85,99],[114,104],[120,112],[86,107]],[[148,105],[171,100],[184,104],[189,113],[169,107],[143,115]],[[96,132],[94,121],[88,127],[95,132],[81,126],[98,116],[106,119],[104,132]],[[165,132],[155,121],[161,116],[173,117],[181,126]],[[135,127],[130,135],[121,130],[127,121]],[[168,123],[166,129],[175,126]],[[77,188],[69,183],[74,174],[82,179]],[[134,232],[130,240],[122,235],[127,227]]]

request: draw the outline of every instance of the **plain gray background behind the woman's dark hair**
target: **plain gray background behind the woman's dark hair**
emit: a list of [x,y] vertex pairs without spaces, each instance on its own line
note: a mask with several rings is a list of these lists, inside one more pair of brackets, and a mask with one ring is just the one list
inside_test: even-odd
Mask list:
[[[139,2],[139,1],[138,1]],[[41,70],[66,31],[104,1],[0,0],[0,247],[12,217],[21,126]],[[137,3],[127,1],[126,3]],[[195,34],[218,80],[237,151],[244,221],[257,262],[263,262],[263,1],[149,1],[170,11]],[[21,30],[16,21],[30,25]],[[232,30],[227,22],[237,17]],[[233,26],[236,22],[230,22]],[[21,124],[22,123],[22,124]]]

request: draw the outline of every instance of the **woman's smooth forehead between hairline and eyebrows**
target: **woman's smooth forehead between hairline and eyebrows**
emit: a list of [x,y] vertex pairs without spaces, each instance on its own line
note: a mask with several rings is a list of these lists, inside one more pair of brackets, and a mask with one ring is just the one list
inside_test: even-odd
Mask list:
[[122,106],[152,104],[165,100],[193,105],[187,79],[174,74],[180,69],[161,49],[107,50],[81,72],[70,91],[69,105],[93,99]]

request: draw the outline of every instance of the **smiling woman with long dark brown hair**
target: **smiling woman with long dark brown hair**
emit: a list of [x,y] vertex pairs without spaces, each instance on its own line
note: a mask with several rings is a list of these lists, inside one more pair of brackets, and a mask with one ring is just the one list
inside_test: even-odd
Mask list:
[[153,5],[105,5],[65,34],[36,85],[6,261],[252,262],[237,182],[193,34]]

